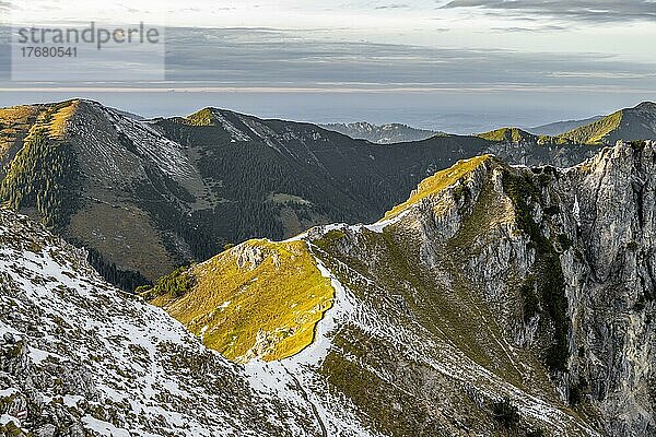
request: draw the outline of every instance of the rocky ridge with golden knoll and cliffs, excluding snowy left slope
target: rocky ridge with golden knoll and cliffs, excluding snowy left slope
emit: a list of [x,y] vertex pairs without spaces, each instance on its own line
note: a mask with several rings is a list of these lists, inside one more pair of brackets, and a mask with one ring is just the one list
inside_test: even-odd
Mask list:
[[653,435],[655,145],[460,161],[372,225],[246,241],[143,296],[237,363],[335,327],[298,378],[382,435]]

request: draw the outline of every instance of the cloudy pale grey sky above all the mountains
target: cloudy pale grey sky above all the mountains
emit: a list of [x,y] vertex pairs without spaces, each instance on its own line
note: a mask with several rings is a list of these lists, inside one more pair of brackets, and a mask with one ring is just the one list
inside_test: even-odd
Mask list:
[[[162,26],[162,64],[106,50],[102,71],[120,74],[11,80],[9,26],[91,21]],[[471,133],[656,101],[653,0],[0,0],[0,106],[82,96],[145,116],[218,106]]]

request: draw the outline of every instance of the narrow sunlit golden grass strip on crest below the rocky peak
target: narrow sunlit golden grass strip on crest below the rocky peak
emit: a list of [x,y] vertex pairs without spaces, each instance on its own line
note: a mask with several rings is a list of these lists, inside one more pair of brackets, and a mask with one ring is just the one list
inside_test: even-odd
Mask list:
[[475,170],[479,165],[490,158],[490,155],[482,155],[470,160],[458,161],[450,168],[437,172],[433,176],[422,180],[419,184],[419,187],[412,191],[410,198],[403,203],[393,208],[391,211],[388,211],[385,214],[384,220],[393,218],[422,199],[440,193],[442,190],[456,184],[460,178],[467,176],[470,172]]

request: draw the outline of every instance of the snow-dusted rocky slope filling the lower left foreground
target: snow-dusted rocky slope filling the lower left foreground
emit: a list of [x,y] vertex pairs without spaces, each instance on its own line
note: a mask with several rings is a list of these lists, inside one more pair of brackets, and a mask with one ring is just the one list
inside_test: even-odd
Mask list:
[[0,435],[321,435],[298,387],[206,350],[84,258],[0,211]]

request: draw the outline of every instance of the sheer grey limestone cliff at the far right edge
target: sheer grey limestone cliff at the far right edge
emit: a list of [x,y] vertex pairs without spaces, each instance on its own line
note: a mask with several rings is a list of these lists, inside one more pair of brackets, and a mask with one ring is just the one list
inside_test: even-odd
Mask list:
[[[621,435],[656,433],[656,150],[607,149],[570,172],[585,269],[569,295],[570,369]],[[564,263],[566,267],[567,263]]]

